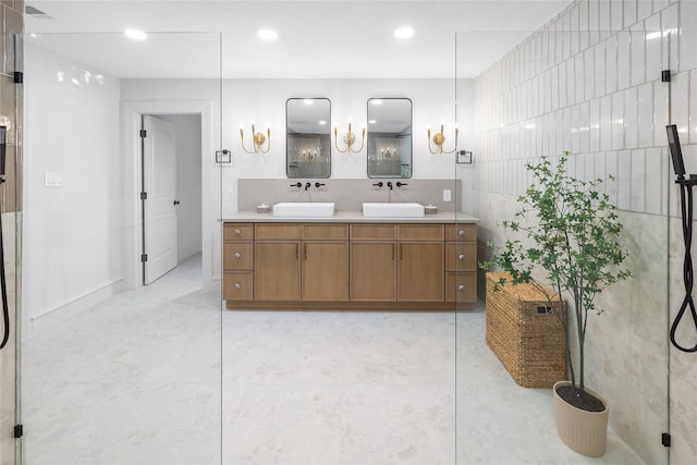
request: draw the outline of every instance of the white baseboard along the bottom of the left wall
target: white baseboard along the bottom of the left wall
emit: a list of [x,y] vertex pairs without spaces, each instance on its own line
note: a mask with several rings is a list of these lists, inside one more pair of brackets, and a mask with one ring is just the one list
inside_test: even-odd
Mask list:
[[123,290],[123,278],[99,283],[81,295],[69,297],[39,315],[29,316],[29,328],[25,338],[37,335],[47,329],[85,311],[87,308],[106,301]]

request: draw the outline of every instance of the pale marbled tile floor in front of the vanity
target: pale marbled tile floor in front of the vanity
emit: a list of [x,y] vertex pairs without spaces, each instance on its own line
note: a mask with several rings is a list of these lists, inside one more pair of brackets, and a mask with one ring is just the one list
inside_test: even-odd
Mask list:
[[194,257],[24,344],[25,463],[641,463],[612,433],[568,450],[484,330],[481,308],[221,313]]

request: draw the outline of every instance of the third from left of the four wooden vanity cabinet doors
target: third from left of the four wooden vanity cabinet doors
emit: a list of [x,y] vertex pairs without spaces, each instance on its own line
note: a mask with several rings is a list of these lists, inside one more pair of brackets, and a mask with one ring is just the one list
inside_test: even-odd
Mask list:
[[351,299],[396,299],[394,242],[354,242],[351,245]]

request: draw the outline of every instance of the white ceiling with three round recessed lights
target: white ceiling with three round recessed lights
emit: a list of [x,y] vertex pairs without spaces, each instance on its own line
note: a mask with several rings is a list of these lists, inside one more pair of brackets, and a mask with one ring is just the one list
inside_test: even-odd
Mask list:
[[[46,15],[26,15],[25,30],[118,77],[218,77],[220,57],[235,78],[474,77],[568,3],[27,0]],[[398,40],[404,25],[415,35]],[[126,28],[160,34],[134,42]],[[259,28],[280,37],[262,41]]]

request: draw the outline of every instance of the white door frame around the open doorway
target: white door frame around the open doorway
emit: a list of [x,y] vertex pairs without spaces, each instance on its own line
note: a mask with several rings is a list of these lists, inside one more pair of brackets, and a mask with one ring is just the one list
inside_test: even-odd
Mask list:
[[[140,242],[143,237],[140,192],[140,117],[144,114],[199,114],[201,156],[201,265],[203,287],[213,289],[215,227],[218,218],[216,205],[213,159],[213,105],[209,100],[125,100],[121,102],[121,139],[124,192],[124,290],[143,286]],[[218,196],[219,197],[219,196]],[[206,272],[208,270],[208,272]]]

